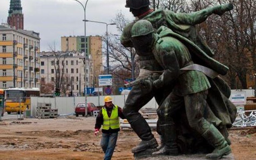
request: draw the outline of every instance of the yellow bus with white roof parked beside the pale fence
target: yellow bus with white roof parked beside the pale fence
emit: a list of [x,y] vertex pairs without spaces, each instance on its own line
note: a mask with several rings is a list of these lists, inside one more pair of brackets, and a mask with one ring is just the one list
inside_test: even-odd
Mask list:
[[5,90],[5,111],[18,114],[30,110],[30,97],[40,96],[39,88],[8,88]]

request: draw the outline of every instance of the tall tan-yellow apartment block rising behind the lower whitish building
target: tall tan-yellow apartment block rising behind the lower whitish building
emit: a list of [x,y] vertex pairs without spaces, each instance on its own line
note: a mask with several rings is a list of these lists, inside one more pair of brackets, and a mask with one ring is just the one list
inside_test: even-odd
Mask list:
[[[86,48],[86,50],[85,50]],[[62,52],[85,52],[87,56],[91,57],[92,68],[92,82],[94,86],[98,86],[98,76],[103,74],[102,65],[102,37],[101,36],[63,36],[61,37],[61,51]]]

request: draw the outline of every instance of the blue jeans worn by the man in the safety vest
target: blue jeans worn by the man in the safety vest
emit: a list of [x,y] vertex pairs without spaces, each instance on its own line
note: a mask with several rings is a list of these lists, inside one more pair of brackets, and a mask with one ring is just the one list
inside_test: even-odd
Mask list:
[[105,153],[104,160],[110,160],[114,149],[116,147],[116,140],[117,140],[117,134],[116,133],[102,133],[102,139],[100,142],[100,146]]

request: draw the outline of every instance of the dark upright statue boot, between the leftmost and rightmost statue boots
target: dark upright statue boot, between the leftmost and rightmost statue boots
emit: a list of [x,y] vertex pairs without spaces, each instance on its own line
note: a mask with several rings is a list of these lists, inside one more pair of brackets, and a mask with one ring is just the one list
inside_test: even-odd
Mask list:
[[176,142],[176,130],[174,124],[160,125],[163,134],[163,145],[158,148],[158,151],[153,152],[152,155],[178,155],[178,146]]

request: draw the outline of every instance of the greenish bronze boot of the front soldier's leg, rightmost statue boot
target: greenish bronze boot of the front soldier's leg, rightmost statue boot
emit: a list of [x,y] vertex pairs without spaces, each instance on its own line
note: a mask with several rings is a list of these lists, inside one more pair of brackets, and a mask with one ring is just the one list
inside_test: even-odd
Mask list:
[[215,148],[212,153],[206,155],[207,159],[220,159],[224,155],[231,153],[231,148],[229,147],[227,141],[225,141],[223,135],[213,124],[210,124],[209,128],[203,133],[202,136]]

